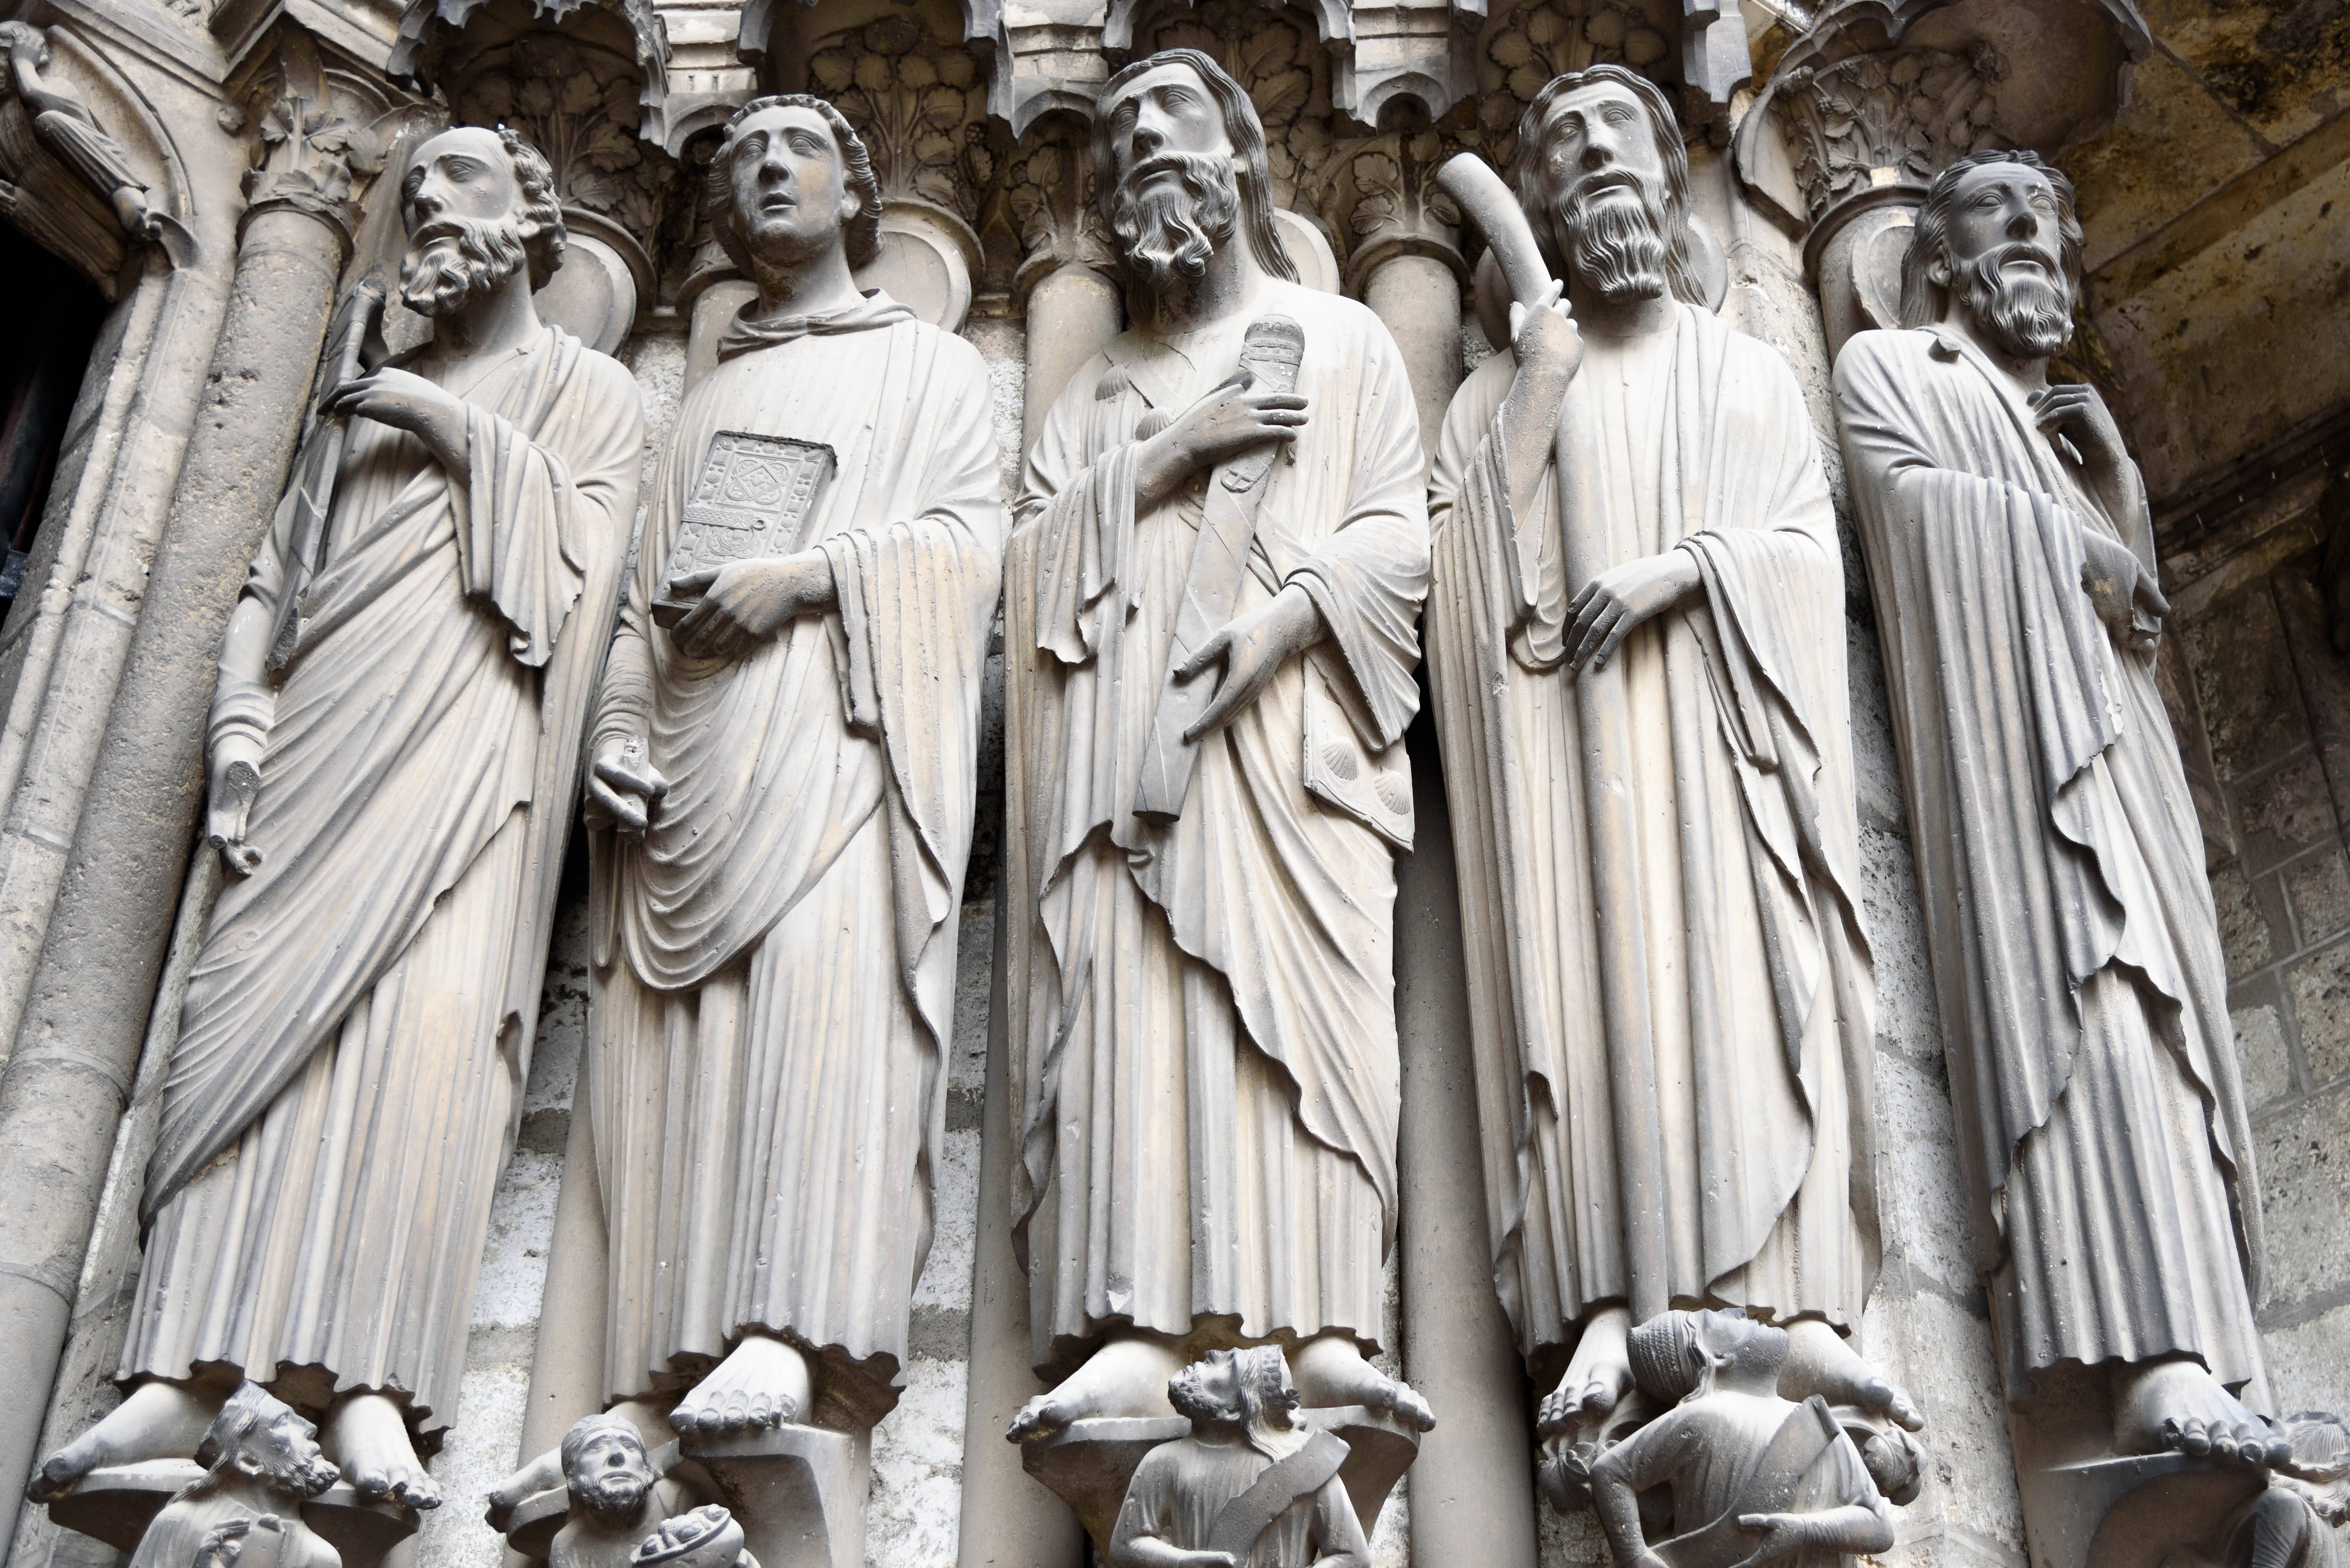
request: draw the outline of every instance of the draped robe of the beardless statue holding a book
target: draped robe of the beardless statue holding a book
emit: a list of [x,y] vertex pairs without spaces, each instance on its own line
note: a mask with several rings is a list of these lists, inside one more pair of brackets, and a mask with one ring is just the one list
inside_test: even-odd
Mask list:
[[[599,735],[670,779],[595,836],[588,1087],[611,1239],[604,1392],[674,1392],[745,1329],[813,1413],[898,1399],[945,1138],[954,941],[1003,500],[987,369],[888,296],[738,322],[663,453]],[[719,430],[822,441],[839,608],[745,660],[651,624]]]

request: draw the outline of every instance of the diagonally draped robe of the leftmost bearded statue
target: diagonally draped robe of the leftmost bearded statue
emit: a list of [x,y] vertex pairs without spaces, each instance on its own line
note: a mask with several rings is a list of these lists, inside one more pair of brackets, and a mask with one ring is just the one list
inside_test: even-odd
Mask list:
[[[122,1359],[228,1364],[310,1411],[390,1392],[428,1441],[465,1366],[644,444],[630,373],[555,326],[463,394],[463,474],[352,420],[282,681],[223,669],[221,704],[270,711],[261,866],[188,981]],[[266,608],[291,526],[289,493],[244,584]]]

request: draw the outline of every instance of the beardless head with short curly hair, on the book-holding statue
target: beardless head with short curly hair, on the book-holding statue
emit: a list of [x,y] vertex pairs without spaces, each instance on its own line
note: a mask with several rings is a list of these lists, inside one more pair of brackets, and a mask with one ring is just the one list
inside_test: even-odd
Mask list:
[[703,181],[710,235],[743,272],[839,242],[851,268],[881,254],[881,181],[855,127],[804,92],[752,99],[726,122]]

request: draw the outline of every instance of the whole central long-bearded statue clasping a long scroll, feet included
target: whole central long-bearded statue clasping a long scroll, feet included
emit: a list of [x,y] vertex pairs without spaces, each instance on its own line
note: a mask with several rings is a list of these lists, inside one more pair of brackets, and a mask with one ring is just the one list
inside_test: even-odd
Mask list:
[[[1429,1427],[1372,1368],[1396,1228],[1394,854],[1426,516],[1394,338],[1281,249],[1264,129],[1168,49],[1093,160],[1135,324],[1027,460],[1006,566],[1013,1420],[1168,1418],[1210,1345]],[[1276,455],[1278,453],[1278,455]]]

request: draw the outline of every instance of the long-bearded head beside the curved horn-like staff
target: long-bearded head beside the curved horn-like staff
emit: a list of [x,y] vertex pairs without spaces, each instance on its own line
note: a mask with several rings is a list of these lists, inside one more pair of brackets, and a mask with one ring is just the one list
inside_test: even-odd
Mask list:
[[1624,66],[1551,77],[1518,120],[1518,204],[1563,277],[1600,298],[1704,303],[1690,261],[1690,153],[1664,92]]

